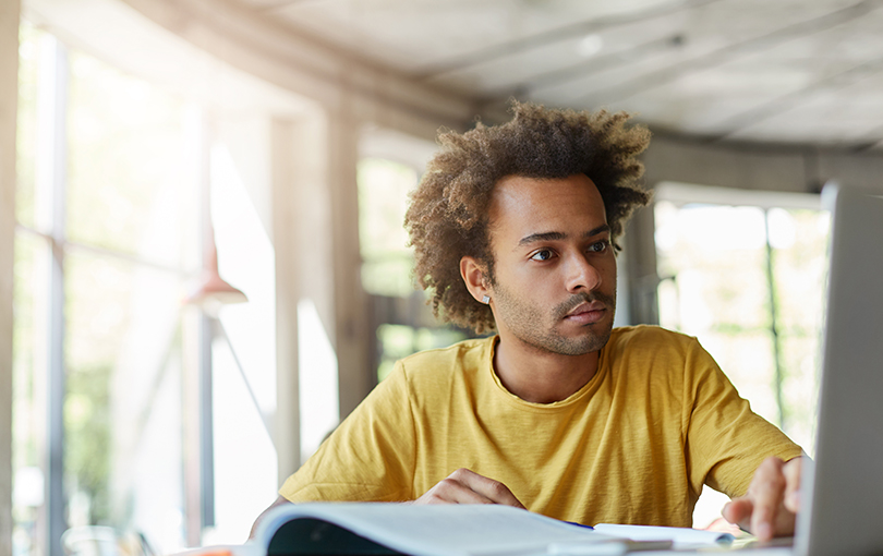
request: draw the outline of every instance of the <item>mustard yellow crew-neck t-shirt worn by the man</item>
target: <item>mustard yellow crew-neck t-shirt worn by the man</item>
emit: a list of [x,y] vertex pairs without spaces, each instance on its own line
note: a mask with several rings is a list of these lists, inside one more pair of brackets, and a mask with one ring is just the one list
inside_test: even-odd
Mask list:
[[765,457],[800,455],[695,338],[617,328],[595,376],[548,404],[506,390],[493,371],[496,342],[398,362],[279,493],[409,500],[468,468],[554,518],[690,527],[703,483],[739,496]]

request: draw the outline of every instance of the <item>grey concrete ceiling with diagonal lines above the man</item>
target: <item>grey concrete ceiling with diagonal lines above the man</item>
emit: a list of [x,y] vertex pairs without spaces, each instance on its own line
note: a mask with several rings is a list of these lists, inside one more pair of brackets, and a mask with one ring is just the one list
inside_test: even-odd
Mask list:
[[234,0],[474,99],[710,141],[883,150],[883,0]]

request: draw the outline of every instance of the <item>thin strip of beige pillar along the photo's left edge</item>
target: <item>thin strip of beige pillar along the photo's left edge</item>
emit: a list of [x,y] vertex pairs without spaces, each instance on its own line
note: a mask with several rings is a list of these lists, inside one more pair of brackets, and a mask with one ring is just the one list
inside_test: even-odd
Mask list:
[[12,555],[12,262],[21,2],[0,2],[0,556]]

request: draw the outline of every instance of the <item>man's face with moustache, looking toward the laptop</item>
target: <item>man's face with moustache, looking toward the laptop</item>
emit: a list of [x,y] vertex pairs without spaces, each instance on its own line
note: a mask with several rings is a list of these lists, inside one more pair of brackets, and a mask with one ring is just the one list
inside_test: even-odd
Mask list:
[[489,217],[491,307],[503,341],[565,355],[603,348],[616,309],[616,258],[592,180],[504,178]]

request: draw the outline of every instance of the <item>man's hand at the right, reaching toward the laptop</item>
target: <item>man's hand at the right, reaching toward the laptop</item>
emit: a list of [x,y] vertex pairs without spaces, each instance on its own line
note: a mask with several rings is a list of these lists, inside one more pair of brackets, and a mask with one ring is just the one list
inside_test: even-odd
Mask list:
[[754,472],[748,493],[724,506],[724,518],[751,532],[760,541],[794,534],[800,509],[802,458],[787,463],[766,458]]

